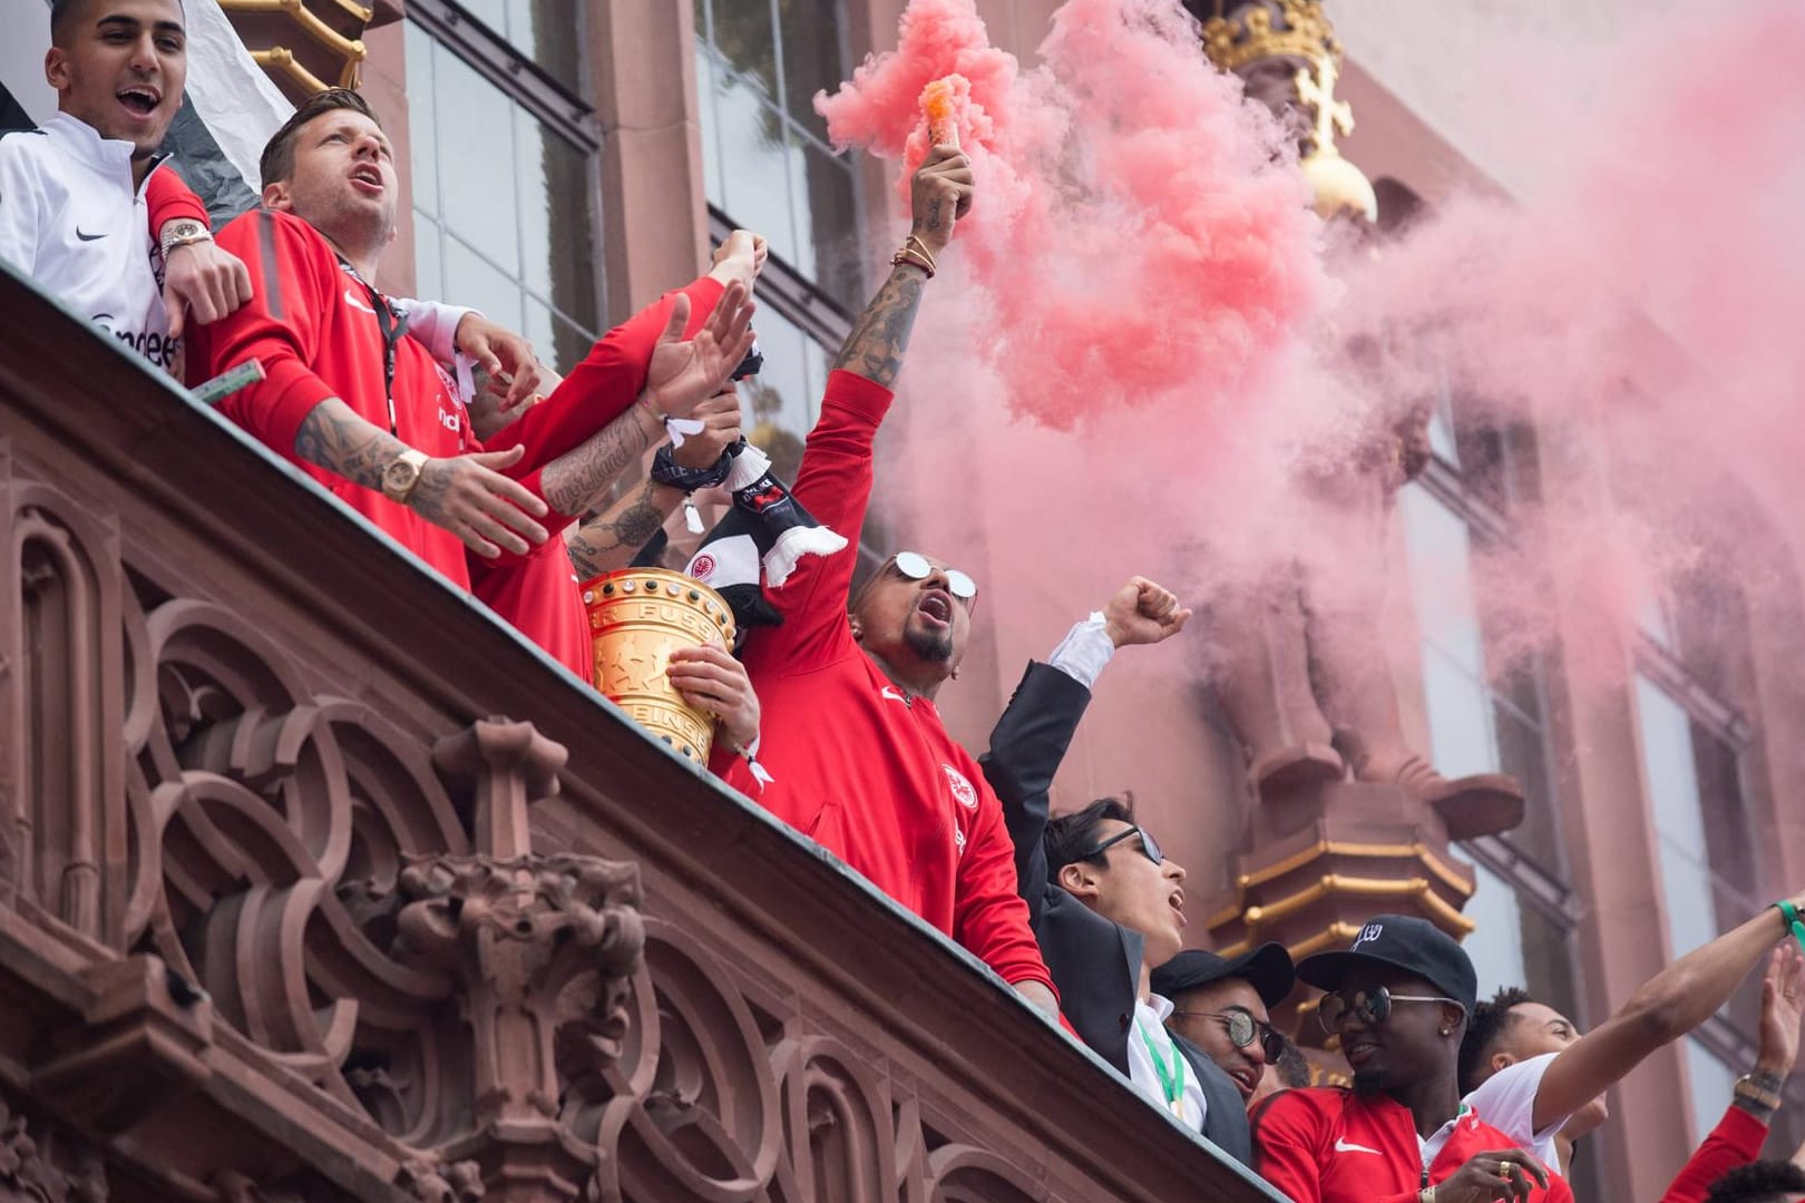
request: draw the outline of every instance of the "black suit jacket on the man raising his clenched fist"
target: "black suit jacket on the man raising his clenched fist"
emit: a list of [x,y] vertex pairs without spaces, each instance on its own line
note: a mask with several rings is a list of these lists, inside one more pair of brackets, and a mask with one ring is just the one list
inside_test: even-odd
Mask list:
[[[1090,705],[1090,691],[1049,664],[1029,664],[1009,707],[978,758],[996,790],[1016,849],[1016,878],[1027,900],[1040,954],[1060,988],[1060,1010],[1078,1035],[1128,1073],[1135,987],[1141,981],[1141,932],[1110,922],[1047,878],[1047,830],[1052,777]],[[1204,1136],[1244,1165],[1253,1165],[1247,1109],[1240,1091],[1189,1041],[1177,1041],[1208,1102]]]

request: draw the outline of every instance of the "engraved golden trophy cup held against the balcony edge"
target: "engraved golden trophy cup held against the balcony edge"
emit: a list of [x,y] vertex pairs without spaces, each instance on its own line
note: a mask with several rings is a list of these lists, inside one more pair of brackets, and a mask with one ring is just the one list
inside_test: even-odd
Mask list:
[[715,716],[686,703],[664,669],[679,647],[733,651],[727,602],[668,568],[621,568],[578,588],[596,642],[596,689],[686,759],[706,765]]

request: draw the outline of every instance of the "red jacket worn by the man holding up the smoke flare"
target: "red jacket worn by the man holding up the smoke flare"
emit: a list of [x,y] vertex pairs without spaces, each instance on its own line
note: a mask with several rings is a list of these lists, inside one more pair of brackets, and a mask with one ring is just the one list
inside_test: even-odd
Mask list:
[[774,781],[760,792],[724,748],[715,770],[1004,981],[1051,990],[1016,891],[1002,804],[933,703],[904,702],[847,622],[872,492],[872,436],[888,408],[890,390],[865,377],[834,372],[827,381],[794,496],[852,546],[805,557],[783,588],[769,590],[783,626],[758,629],[745,649],[764,709],[758,759]]

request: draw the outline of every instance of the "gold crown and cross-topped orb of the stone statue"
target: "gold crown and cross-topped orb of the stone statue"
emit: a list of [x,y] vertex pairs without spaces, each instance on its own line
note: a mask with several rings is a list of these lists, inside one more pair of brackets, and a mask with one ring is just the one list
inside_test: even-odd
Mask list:
[[[1227,13],[1224,13],[1227,9]],[[1325,218],[1352,213],[1368,222],[1379,216],[1372,182],[1341,157],[1336,137],[1354,132],[1354,108],[1336,99],[1341,78],[1341,40],[1323,14],[1321,0],[1253,0],[1235,5],[1217,2],[1217,16],[1204,22],[1204,54],[1222,70],[1245,76],[1271,60],[1301,60],[1292,76],[1300,108],[1310,114],[1298,164],[1316,193],[1316,211]]]

